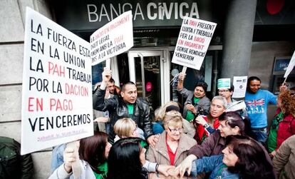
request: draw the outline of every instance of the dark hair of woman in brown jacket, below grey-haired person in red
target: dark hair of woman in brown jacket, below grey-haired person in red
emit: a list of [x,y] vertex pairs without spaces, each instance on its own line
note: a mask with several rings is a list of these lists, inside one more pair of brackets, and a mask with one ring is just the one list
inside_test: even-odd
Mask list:
[[242,118],[242,116],[235,111],[222,113],[222,115],[219,116],[219,121],[226,121],[226,124],[231,128],[236,126],[239,127],[239,133],[241,133],[241,135],[251,134],[251,123],[249,118]]

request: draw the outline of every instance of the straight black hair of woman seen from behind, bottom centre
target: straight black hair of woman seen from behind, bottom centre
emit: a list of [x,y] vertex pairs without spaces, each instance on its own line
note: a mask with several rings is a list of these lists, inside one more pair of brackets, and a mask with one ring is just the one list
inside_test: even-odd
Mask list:
[[108,178],[147,178],[148,171],[140,162],[141,138],[121,138],[110,148]]

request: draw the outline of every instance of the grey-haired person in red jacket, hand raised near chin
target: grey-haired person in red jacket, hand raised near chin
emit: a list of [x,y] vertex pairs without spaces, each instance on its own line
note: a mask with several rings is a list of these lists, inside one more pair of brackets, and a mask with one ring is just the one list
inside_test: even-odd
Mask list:
[[223,96],[215,96],[212,99],[210,113],[207,116],[198,116],[195,119],[197,123],[197,132],[195,139],[197,143],[202,143],[205,138],[213,133],[219,127],[219,116],[227,109],[227,100]]

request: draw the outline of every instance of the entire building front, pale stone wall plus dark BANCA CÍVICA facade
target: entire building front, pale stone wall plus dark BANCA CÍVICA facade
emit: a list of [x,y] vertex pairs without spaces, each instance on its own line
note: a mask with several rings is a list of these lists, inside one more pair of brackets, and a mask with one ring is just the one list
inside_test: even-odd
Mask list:
[[[21,83],[24,53],[25,7],[39,11],[89,41],[90,34],[125,11],[133,14],[134,46],[111,60],[117,86],[134,81],[138,96],[152,108],[182,100],[170,81],[182,66],[171,63],[184,16],[212,21],[217,28],[200,71],[187,69],[185,87],[208,83],[207,96],[217,94],[218,78],[259,76],[262,88],[276,93],[284,68],[295,50],[295,2],[266,0],[200,1],[2,1],[0,36],[0,133],[20,141]],[[93,84],[101,80],[105,63],[93,66]],[[288,80],[295,86],[295,74]],[[275,107],[273,107],[275,108]],[[271,110],[269,110],[271,111]],[[269,114],[271,116],[271,114]],[[48,177],[51,149],[33,153],[36,178]],[[45,163],[46,161],[46,163]]]

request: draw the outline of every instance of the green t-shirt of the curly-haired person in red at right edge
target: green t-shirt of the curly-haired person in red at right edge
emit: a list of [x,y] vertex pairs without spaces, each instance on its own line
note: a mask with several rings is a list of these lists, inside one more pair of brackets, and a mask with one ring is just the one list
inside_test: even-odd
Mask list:
[[276,149],[276,135],[279,129],[279,123],[284,118],[284,113],[278,113],[274,119],[271,121],[271,128],[269,130],[269,138],[267,139],[267,147],[269,149],[269,153]]

